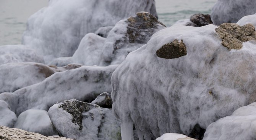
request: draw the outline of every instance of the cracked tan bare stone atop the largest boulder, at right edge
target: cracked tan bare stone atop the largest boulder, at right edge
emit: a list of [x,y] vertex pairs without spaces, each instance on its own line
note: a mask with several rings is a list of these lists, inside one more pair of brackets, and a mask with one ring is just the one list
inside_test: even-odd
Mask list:
[[228,50],[241,49],[243,42],[256,40],[256,31],[252,24],[239,26],[235,23],[223,23],[215,31],[219,33],[222,45]]

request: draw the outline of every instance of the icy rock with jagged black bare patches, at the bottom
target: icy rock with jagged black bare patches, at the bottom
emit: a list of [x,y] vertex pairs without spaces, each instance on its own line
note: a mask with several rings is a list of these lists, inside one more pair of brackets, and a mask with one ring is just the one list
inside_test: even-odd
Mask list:
[[49,109],[60,135],[76,140],[120,140],[120,121],[112,109],[75,99],[59,101]]

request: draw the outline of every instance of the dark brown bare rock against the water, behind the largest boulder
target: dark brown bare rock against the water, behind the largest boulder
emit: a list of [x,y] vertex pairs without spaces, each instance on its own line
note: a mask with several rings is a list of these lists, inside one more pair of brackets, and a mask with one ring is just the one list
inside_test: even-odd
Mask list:
[[210,14],[193,14],[190,17],[190,21],[192,21],[198,27],[206,26],[208,24],[212,24]]

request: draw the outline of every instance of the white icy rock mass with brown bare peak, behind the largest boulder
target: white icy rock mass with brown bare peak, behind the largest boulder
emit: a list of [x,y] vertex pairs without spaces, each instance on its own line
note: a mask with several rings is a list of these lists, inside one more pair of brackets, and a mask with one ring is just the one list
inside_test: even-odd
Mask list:
[[107,38],[93,33],[85,35],[73,55],[73,63],[87,66],[120,64],[128,53],[143,46],[155,32],[164,28],[152,14],[136,13],[115,24]]

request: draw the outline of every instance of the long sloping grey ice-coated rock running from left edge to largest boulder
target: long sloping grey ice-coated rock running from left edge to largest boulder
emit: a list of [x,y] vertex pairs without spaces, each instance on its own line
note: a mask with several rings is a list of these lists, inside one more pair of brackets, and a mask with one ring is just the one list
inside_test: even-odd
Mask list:
[[82,66],[56,72],[44,81],[16,90],[13,94],[2,93],[0,100],[7,101],[17,115],[27,109],[48,110],[57,101],[70,98],[90,101],[102,92],[111,92],[110,77],[116,68],[117,65]]

